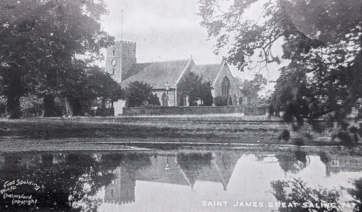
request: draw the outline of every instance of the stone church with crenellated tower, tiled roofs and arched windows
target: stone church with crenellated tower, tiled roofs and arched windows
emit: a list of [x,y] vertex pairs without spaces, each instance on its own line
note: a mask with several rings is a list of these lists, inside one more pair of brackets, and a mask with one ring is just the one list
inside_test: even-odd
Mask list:
[[[188,96],[177,93],[177,86],[186,73],[194,72],[210,82],[213,98],[225,97],[230,106],[245,105],[247,99],[234,81],[225,61],[219,64],[196,65],[192,58],[163,62],[137,63],[136,43],[117,41],[107,48],[106,71],[127,88],[139,81],[152,86],[161,106],[189,106]],[[125,101],[114,103],[115,115],[122,114]],[[214,103],[215,106],[215,103]]]

